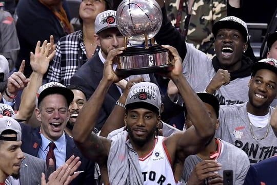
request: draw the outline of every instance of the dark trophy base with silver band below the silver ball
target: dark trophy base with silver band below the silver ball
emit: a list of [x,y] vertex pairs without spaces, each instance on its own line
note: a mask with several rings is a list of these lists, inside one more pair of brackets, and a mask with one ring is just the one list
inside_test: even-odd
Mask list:
[[118,55],[116,75],[130,76],[146,73],[164,73],[172,70],[168,49],[160,45],[128,47]]

